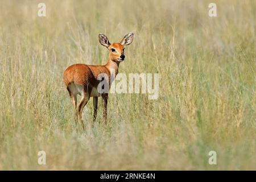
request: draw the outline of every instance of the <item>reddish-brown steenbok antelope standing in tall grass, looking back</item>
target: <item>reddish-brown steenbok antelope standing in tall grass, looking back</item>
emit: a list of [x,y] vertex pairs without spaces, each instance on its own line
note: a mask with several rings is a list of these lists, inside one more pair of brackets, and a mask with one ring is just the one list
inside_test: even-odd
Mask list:
[[[124,46],[128,46],[133,42],[133,38],[134,33],[129,33],[125,35],[120,43],[110,44],[108,38],[104,34],[99,34],[98,40],[101,45],[109,49],[108,62],[105,65],[73,64],[64,71],[63,80],[75,108],[75,122],[77,124],[77,118],[79,116],[83,130],[84,122],[82,121],[82,109],[87,104],[90,97],[93,97],[93,121],[96,119],[98,97],[100,96],[102,97],[104,105],[103,116],[106,121],[108,93],[98,92],[97,88],[100,80],[97,78],[101,73],[104,73],[108,76],[108,80],[110,81],[110,70],[114,70],[114,77],[117,75],[119,63],[125,60]],[[78,106],[77,94],[81,96],[81,101]]]

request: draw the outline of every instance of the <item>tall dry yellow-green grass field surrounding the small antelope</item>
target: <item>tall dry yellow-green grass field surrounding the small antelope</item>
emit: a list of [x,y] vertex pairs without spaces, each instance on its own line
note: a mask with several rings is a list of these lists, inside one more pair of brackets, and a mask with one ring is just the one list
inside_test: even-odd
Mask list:
[[[0,2],[0,169],[256,169],[256,1],[40,2]],[[110,94],[94,127],[91,99],[76,132],[63,71],[131,31],[119,72],[159,73],[159,98]]]

